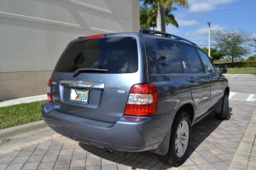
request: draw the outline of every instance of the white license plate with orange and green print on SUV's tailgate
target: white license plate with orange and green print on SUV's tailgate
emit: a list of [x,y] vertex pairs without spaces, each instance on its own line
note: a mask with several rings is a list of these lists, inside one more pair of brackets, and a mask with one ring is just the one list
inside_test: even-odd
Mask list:
[[71,88],[70,100],[83,104],[88,104],[89,90]]

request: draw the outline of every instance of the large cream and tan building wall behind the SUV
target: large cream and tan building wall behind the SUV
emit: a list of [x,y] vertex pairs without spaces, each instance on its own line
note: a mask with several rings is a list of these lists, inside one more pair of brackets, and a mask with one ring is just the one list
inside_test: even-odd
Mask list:
[[0,100],[45,94],[71,40],[132,31],[138,0],[0,0]]

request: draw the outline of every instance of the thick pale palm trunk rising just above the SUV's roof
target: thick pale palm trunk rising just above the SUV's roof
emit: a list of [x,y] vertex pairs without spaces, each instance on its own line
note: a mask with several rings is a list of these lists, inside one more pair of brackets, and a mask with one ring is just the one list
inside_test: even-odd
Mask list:
[[158,3],[156,26],[158,31],[166,31],[166,8]]

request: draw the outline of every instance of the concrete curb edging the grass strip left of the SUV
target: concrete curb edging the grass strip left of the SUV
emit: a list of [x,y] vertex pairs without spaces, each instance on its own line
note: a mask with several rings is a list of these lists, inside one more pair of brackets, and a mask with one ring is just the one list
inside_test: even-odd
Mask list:
[[0,139],[16,139],[32,133],[38,133],[46,130],[49,130],[49,127],[44,121],[31,122],[24,125],[9,127],[0,130]]

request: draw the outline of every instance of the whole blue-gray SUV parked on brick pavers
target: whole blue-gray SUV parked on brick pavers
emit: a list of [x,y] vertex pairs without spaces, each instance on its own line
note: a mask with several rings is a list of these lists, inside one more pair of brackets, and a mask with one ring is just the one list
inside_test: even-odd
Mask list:
[[108,150],[152,151],[183,164],[192,128],[229,113],[225,66],[194,42],[166,32],[79,37],[67,45],[48,82],[44,121],[55,132]]

